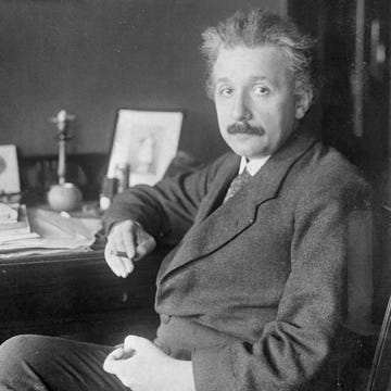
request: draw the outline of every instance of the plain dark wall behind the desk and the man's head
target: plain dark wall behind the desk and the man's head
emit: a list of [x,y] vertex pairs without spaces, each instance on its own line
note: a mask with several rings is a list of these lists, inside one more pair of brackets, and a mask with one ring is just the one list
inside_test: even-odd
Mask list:
[[185,110],[180,149],[226,150],[203,89],[201,31],[239,8],[286,0],[0,0],[0,143],[55,153],[47,118],[77,118],[71,151],[110,151],[118,108]]

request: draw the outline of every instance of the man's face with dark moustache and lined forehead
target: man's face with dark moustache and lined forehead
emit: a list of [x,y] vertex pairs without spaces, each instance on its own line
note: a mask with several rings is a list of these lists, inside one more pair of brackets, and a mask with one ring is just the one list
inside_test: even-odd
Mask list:
[[275,152],[293,131],[306,108],[298,104],[279,48],[238,46],[219,50],[213,67],[219,130],[239,155]]

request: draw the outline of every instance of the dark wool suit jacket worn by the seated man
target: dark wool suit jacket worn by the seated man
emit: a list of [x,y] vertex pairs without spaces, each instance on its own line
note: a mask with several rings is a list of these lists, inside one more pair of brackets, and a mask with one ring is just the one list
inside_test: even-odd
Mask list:
[[198,391],[326,389],[349,305],[349,219],[367,213],[368,186],[299,133],[220,205],[239,161],[137,186],[105,225],[133,218],[178,243],[157,276],[155,342],[192,361]]

